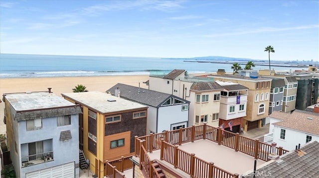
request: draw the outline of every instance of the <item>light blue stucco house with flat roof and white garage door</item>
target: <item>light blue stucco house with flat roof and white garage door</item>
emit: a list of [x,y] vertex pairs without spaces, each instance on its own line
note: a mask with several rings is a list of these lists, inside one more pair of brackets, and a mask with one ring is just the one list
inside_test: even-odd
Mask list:
[[80,107],[54,95],[50,88],[6,93],[3,102],[16,177],[78,178]]

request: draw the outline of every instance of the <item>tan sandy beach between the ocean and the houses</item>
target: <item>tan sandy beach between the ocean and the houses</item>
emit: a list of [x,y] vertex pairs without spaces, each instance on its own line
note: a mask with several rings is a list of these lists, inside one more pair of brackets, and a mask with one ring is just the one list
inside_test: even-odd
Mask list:
[[[50,78],[0,78],[1,101],[3,93],[51,91],[61,96],[61,93],[72,93],[72,89],[82,84],[88,91],[105,92],[117,83],[124,83],[141,88],[148,88],[143,83],[149,75],[117,75],[117,76],[81,76],[81,77],[50,77]],[[0,103],[0,134],[6,131],[3,123],[4,102]]]

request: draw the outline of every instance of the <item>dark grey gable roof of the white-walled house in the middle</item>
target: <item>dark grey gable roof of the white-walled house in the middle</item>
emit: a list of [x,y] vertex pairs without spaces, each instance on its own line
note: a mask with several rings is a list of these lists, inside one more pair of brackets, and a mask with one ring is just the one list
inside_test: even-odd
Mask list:
[[111,92],[111,94],[115,94],[115,89],[120,90],[120,97],[125,98],[134,102],[138,102],[141,104],[153,106],[153,107],[160,107],[162,103],[168,100],[170,97],[174,97],[178,100],[184,101],[185,103],[189,103],[188,101],[181,99],[179,97],[161,93],[158,91],[148,90],[144,88],[139,88],[131,85],[126,85],[122,83],[118,83],[114,85],[112,88],[108,89],[106,92]]

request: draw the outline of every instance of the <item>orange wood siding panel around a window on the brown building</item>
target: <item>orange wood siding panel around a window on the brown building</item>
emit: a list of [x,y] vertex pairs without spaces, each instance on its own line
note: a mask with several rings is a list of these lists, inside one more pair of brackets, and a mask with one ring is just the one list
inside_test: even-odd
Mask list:
[[[124,138],[124,146],[112,148],[111,149],[111,141],[119,140]],[[104,137],[103,141],[103,159],[104,161],[114,160],[121,158],[121,156],[131,155],[130,146],[131,146],[131,131],[121,132],[113,135],[108,135]]]

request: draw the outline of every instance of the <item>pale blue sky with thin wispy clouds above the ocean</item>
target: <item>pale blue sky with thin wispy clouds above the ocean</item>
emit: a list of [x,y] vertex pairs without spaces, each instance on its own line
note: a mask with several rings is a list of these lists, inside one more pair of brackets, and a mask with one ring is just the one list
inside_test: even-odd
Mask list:
[[0,52],[319,60],[319,0],[1,0]]

